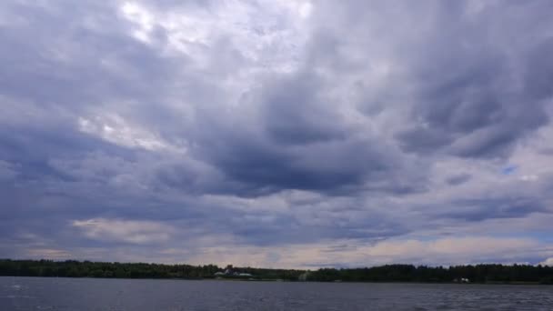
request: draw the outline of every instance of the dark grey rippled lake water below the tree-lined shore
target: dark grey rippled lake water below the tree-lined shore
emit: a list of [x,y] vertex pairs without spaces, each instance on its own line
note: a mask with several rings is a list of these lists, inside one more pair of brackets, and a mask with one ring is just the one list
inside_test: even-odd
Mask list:
[[0,310],[553,310],[553,286],[0,277]]

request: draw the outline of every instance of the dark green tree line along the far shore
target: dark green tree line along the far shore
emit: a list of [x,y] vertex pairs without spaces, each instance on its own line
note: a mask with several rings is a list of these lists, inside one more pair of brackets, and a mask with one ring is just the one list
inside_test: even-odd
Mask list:
[[[468,265],[413,266],[386,265],[365,268],[321,268],[315,271],[219,267],[215,265],[161,265],[146,263],[109,263],[91,261],[0,260],[0,276],[65,276],[106,278],[216,278],[228,269],[246,273],[247,279],[307,280],[319,282],[421,282],[450,283],[468,279],[471,283],[553,284],[553,266]],[[220,276],[219,276],[220,277]],[[223,276],[233,278],[236,276]],[[239,277],[238,277],[239,278]]]

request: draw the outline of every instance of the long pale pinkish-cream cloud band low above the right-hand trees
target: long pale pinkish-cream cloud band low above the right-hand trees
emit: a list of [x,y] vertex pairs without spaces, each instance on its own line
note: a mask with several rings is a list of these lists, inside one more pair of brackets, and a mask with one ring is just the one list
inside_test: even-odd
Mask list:
[[[526,262],[547,248],[528,238],[468,236],[434,240],[390,239],[372,245],[356,240],[335,240],[292,246],[199,247],[187,260],[202,264],[232,264],[287,268],[317,266],[379,266],[390,263],[415,265],[465,265],[489,262]],[[271,253],[286,254],[274,258]],[[222,259],[223,258],[223,259]]]

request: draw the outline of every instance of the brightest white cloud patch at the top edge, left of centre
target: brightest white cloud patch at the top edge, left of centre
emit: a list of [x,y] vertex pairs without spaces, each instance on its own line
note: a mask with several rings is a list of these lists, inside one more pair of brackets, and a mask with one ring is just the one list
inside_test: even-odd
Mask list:
[[126,2],[120,11],[136,25],[131,35],[137,40],[152,43],[151,33],[160,27],[166,31],[165,47],[192,57],[199,68],[211,70],[208,67],[216,60],[209,57],[210,50],[217,48],[221,39],[229,40],[249,65],[254,65],[240,70],[251,73],[290,71],[296,67],[298,46],[306,40],[304,19],[311,14],[312,5],[307,1],[262,1],[260,4],[225,1],[206,7],[190,5],[184,9],[177,5],[171,10],[159,10],[145,2]]

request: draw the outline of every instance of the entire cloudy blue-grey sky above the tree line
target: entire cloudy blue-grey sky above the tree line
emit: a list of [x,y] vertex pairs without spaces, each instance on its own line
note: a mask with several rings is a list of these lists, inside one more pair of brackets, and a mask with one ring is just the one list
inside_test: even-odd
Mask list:
[[552,11],[1,1],[0,257],[553,265]]

